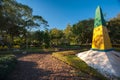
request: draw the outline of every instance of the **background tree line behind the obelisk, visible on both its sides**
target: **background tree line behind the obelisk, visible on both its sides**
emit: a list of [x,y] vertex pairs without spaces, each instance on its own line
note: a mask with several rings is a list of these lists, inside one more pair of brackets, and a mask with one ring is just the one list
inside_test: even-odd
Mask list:
[[[107,22],[108,32],[113,44],[119,44],[120,42],[118,37],[120,36],[119,26],[119,17],[113,18]],[[48,44],[48,47],[61,45],[89,45],[90,48],[93,28],[93,19],[82,20],[73,25],[68,24],[64,30],[53,28],[47,31],[37,31],[34,35],[32,35],[34,36],[32,42],[35,41],[38,45],[41,46]],[[45,33],[47,33],[46,36]]]

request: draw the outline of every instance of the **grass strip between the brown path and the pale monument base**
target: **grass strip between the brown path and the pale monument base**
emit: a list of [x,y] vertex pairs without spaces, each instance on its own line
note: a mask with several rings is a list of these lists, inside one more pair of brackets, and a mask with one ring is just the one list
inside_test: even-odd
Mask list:
[[77,52],[79,51],[54,52],[52,56],[74,67],[76,70],[81,71],[82,74],[80,73],[78,76],[88,74],[89,76],[97,78],[97,80],[107,80],[107,78],[97,72],[97,70],[89,67],[84,61],[75,56]]

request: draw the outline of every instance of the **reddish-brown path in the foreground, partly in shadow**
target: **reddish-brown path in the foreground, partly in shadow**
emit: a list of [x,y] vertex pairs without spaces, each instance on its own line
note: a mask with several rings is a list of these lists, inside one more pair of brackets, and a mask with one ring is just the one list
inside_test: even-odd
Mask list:
[[28,54],[18,58],[16,69],[8,80],[92,80],[77,77],[75,69],[51,54]]

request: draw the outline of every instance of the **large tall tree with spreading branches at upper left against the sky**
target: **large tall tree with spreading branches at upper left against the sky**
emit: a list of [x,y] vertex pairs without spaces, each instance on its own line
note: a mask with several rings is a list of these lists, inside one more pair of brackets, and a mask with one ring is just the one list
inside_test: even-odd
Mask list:
[[[23,37],[27,42],[27,31],[34,27],[47,25],[42,16],[33,15],[32,8],[18,3],[16,0],[1,0],[0,2],[0,36],[11,45],[14,37]],[[7,39],[10,37],[9,39]],[[8,41],[10,40],[10,41]]]

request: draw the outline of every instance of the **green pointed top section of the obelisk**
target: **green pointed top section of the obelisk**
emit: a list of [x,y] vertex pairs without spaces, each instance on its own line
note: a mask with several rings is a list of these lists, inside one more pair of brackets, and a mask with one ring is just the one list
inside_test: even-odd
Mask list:
[[100,25],[105,26],[105,20],[103,18],[102,10],[101,10],[100,6],[98,6],[96,9],[96,14],[95,14],[94,28],[96,28]]

